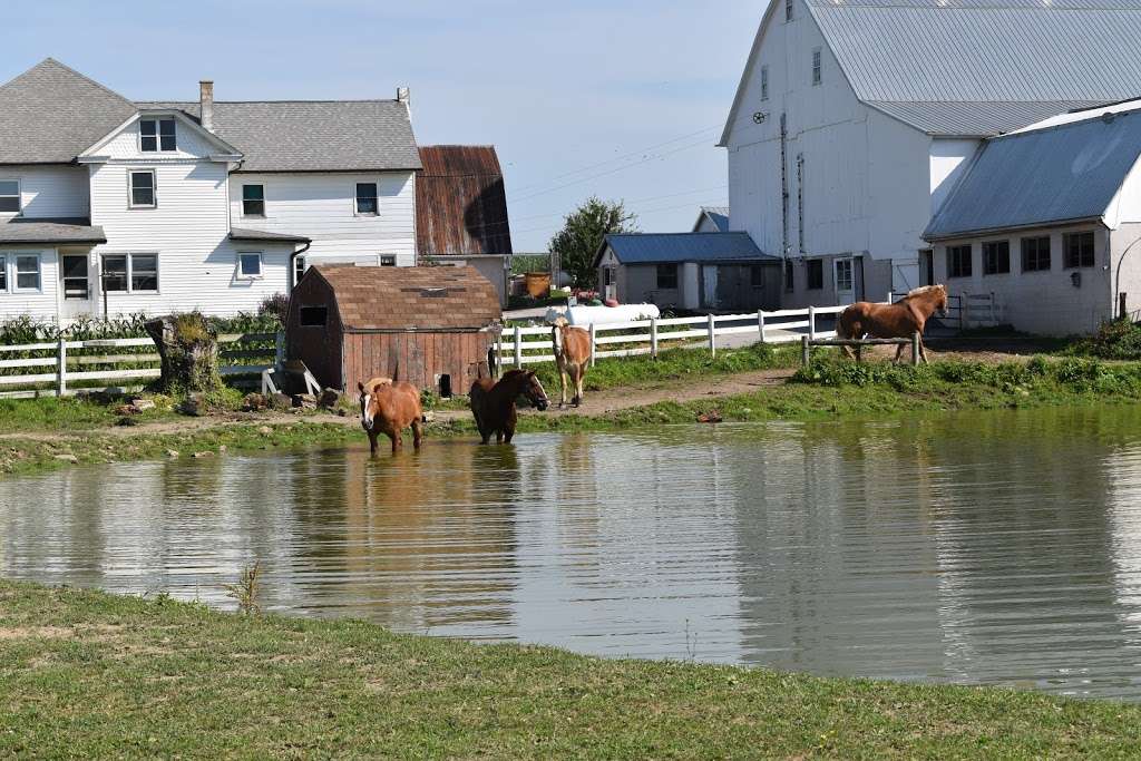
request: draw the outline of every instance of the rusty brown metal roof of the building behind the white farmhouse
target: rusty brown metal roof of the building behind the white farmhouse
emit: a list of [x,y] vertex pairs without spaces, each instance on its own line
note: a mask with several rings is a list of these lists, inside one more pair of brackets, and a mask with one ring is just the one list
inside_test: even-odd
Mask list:
[[420,147],[416,245],[423,256],[511,253],[503,172],[494,146]]

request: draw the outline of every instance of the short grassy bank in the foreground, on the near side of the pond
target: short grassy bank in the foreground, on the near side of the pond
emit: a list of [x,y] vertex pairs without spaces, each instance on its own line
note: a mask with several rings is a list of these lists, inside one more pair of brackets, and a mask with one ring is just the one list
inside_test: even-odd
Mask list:
[[0,756],[1125,758],[1141,707],[0,582]]

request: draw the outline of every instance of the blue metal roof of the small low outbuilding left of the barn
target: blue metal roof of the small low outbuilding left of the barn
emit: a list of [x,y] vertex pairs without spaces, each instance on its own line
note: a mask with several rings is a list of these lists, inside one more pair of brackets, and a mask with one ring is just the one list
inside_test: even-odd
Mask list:
[[[607,235],[609,246],[624,265],[682,261],[779,261],[761,252],[748,233],[628,233]],[[601,252],[599,252],[601,256]]]

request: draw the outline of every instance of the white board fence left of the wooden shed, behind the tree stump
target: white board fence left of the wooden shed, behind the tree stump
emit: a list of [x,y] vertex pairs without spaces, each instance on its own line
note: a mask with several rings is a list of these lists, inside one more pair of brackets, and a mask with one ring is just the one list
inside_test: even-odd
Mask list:
[[[237,361],[236,364],[221,365],[218,372],[225,378],[244,375],[258,377],[273,364],[243,364],[243,359],[269,359],[274,362],[280,348],[244,348],[251,343],[276,341],[281,347],[280,333],[234,333],[218,337],[221,347],[219,357],[222,361]],[[235,346],[236,348],[228,348]],[[40,343],[22,343],[0,346],[0,397],[35,397],[35,396],[70,396],[79,390],[98,391],[121,389],[127,384],[138,386],[132,381],[146,381],[159,378],[159,355],[153,351],[112,353],[113,349],[139,349],[154,347],[149,338],[116,338],[91,341],[46,341]],[[106,354],[89,354],[91,350],[105,349]],[[76,354],[83,351],[84,354]],[[33,354],[32,357],[7,359],[13,354]],[[122,365],[129,365],[122,367]],[[96,367],[91,370],[91,367]],[[11,370],[30,372],[8,374]],[[73,388],[78,384],[81,388]],[[244,384],[257,384],[250,381]]]

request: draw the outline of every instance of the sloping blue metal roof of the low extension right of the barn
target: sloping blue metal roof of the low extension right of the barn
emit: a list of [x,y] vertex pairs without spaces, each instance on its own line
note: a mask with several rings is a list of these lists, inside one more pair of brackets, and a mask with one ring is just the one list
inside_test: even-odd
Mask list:
[[992,138],[923,237],[1100,218],[1139,155],[1138,111]]

